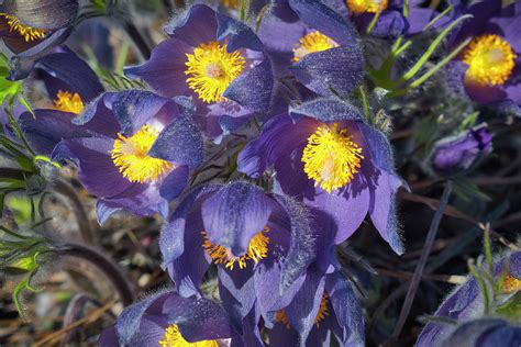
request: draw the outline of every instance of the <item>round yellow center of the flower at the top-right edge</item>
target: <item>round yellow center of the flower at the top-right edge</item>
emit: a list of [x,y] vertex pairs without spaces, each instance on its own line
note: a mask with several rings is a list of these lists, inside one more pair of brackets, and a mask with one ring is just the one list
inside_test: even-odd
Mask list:
[[516,67],[517,55],[498,35],[475,37],[465,48],[463,63],[468,65],[465,78],[481,86],[503,85]]

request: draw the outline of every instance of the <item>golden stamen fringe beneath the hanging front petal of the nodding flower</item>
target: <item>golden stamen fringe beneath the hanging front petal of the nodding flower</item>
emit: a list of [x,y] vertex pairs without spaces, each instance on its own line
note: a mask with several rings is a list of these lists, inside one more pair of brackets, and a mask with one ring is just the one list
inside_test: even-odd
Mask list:
[[212,244],[208,239],[206,232],[201,233],[204,237],[204,243],[202,244],[202,247],[206,249],[207,254],[210,256],[210,258],[213,259],[215,264],[225,264],[226,268],[233,270],[235,262],[237,262],[239,268],[244,269],[246,267],[246,260],[250,259],[257,264],[258,260],[267,257],[269,237],[267,237],[265,234],[268,232],[269,228],[265,227],[262,232],[257,233],[250,240],[250,245],[247,246],[246,253],[240,257],[232,254],[230,248]]

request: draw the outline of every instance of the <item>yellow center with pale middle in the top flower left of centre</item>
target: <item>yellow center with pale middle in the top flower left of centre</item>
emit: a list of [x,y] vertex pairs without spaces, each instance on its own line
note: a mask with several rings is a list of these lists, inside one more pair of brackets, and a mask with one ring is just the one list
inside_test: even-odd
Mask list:
[[187,54],[189,77],[187,83],[204,102],[223,100],[222,93],[228,86],[241,75],[245,60],[239,51],[229,53],[226,44],[218,42],[200,44],[193,54]]

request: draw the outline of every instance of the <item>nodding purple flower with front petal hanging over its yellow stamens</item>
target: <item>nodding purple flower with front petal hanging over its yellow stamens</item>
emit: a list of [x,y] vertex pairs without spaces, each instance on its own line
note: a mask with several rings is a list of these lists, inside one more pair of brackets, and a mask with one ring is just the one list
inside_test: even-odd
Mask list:
[[298,203],[241,181],[192,191],[174,212],[159,245],[184,296],[199,293],[202,277],[217,265],[221,300],[237,329],[254,304],[266,316],[281,292],[290,287],[295,292],[317,253]]

